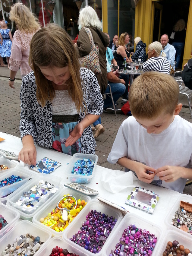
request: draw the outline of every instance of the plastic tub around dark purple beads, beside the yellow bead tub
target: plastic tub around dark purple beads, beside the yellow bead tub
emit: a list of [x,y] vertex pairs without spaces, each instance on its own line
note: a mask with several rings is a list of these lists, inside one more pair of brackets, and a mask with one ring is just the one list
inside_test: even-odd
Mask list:
[[[108,216],[113,216],[113,217],[115,217],[115,219],[117,219],[117,223],[115,224],[112,232],[110,233],[109,237],[107,238],[101,251],[97,254],[87,251],[86,249],[82,248],[80,245],[77,245],[74,242],[72,242],[71,240],[69,240],[70,238],[73,237],[73,235],[75,235],[75,233],[77,233],[80,230],[82,223],[86,220],[86,216],[90,212],[90,210],[97,210],[97,212],[100,211],[101,213],[108,214]],[[117,230],[118,226],[121,224],[120,223],[121,220],[122,220],[122,214],[120,211],[118,211],[108,205],[105,205],[103,203],[100,203],[97,200],[91,200],[86,205],[86,209],[82,212],[82,214],[77,219],[75,218],[72,221],[72,223],[70,224],[70,229],[66,229],[66,231],[63,233],[63,239],[68,244],[73,246],[74,248],[77,248],[79,251],[82,251],[83,253],[87,254],[87,256],[93,256],[93,255],[101,256],[104,248],[106,248],[107,245],[109,244],[112,234],[116,234],[116,230]]]

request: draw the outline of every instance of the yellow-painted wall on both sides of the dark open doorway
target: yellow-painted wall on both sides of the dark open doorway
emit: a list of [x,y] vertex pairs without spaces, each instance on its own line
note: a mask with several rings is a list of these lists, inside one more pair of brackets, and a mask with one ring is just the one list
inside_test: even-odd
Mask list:
[[[135,37],[139,36],[148,46],[153,35],[153,3],[156,0],[140,0],[135,9]],[[192,58],[192,0],[190,0],[183,65]]]

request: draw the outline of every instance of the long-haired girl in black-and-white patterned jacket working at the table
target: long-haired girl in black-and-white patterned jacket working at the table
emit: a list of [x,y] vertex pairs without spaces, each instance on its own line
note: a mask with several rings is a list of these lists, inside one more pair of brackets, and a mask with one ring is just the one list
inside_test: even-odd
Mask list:
[[79,55],[64,29],[48,24],[30,44],[30,67],[20,92],[19,159],[36,164],[34,142],[59,152],[95,154],[91,124],[102,114],[96,76],[80,68]]

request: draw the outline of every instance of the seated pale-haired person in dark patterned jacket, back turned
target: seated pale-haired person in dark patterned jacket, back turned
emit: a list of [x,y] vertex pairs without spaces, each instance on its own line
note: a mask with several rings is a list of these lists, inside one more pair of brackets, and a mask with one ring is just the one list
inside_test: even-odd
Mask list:
[[133,56],[131,57],[133,61],[137,61],[138,59],[141,59],[141,61],[145,62],[147,60],[146,55],[146,43],[143,43],[141,38],[137,36],[134,39],[134,43],[136,44],[135,52],[133,53]]

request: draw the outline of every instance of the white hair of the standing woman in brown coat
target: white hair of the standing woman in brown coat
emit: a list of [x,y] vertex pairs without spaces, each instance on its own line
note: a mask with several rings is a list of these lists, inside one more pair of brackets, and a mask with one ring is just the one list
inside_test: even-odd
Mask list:
[[78,24],[81,27],[96,27],[102,29],[102,23],[99,21],[96,11],[91,6],[86,6],[79,12]]

